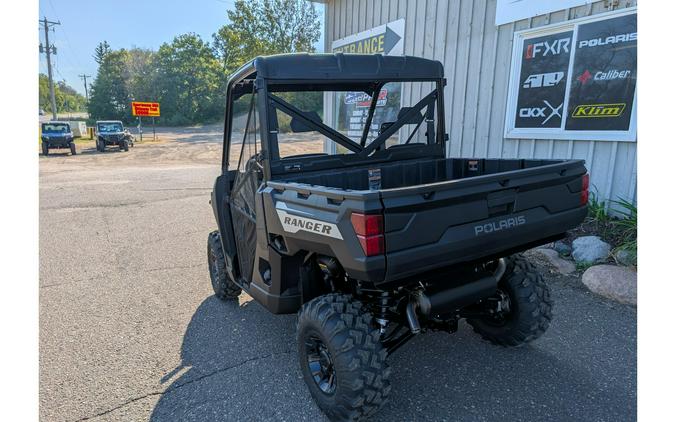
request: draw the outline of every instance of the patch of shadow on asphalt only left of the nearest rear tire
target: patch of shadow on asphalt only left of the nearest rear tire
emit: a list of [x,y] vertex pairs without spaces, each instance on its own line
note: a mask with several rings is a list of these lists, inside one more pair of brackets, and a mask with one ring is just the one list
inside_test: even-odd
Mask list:
[[[161,379],[166,384],[173,378],[151,420],[273,417],[274,400],[265,401],[266,391],[285,390],[297,378],[294,345],[294,315],[273,315],[253,301],[240,305],[210,296],[188,324],[181,364]],[[257,409],[262,413],[250,414],[252,400],[266,407]]]

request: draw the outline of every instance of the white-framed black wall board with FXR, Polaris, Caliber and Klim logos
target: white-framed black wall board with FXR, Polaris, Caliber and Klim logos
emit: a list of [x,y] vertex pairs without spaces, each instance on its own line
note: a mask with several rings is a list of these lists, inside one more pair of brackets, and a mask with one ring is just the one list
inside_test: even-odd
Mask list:
[[506,138],[635,141],[635,8],[518,32]]

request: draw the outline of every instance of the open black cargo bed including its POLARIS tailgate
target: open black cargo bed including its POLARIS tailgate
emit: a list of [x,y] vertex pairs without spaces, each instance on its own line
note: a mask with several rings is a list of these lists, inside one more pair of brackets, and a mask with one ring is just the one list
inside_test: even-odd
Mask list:
[[[373,170],[381,175],[379,190],[369,189]],[[582,160],[441,158],[302,173],[268,186],[275,202],[299,215],[326,215],[338,227],[344,201],[382,213],[384,259],[353,270],[389,282],[560,238],[586,215],[585,173]]]

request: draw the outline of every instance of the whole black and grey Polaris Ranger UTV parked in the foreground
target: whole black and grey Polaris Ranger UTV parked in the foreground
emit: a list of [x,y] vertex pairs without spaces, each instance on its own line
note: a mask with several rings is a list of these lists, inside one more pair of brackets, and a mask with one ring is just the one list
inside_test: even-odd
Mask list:
[[258,57],[228,83],[211,283],[298,312],[300,369],[331,419],[373,414],[387,357],[419,333],[464,318],[517,346],[549,326],[518,252],[584,219],[584,162],[447,158],[445,83],[437,61],[347,54]]

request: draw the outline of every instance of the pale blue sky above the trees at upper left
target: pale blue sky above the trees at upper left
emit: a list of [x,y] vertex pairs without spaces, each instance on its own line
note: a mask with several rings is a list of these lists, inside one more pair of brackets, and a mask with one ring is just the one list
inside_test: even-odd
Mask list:
[[[323,51],[324,6],[315,5],[322,26],[316,48]],[[84,95],[84,82],[78,75],[96,76],[93,54],[99,42],[106,40],[113,49],[157,50],[187,32],[211,41],[211,35],[228,23],[227,10],[232,8],[234,0],[40,0],[39,11],[40,19],[46,16],[61,22],[49,33],[49,42],[57,49],[52,56],[55,80],[65,80]],[[35,26],[44,44],[44,31]],[[44,54],[40,54],[40,72],[47,74]]]

